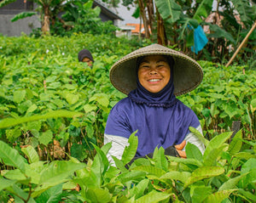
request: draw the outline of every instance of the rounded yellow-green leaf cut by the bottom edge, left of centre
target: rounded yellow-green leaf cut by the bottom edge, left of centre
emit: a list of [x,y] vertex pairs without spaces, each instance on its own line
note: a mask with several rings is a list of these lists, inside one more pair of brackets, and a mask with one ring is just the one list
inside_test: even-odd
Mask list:
[[109,193],[108,189],[89,188],[87,189],[85,195],[86,200],[89,200],[90,202],[111,202],[111,194]]

